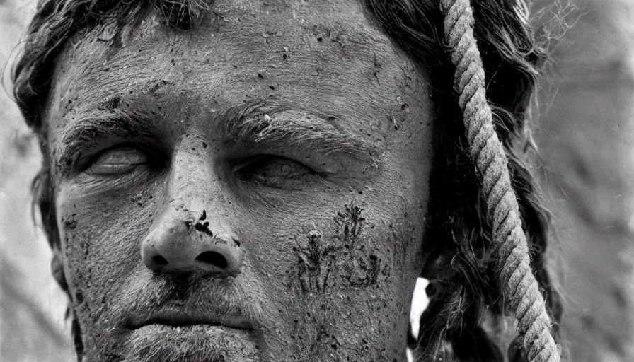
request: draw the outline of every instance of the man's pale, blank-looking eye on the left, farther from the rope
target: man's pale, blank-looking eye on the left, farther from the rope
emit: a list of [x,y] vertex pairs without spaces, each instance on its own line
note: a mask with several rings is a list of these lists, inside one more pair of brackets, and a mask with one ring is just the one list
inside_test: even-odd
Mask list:
[[142,165],[149,165],[147,153],[133,146],[118,146],[99,153],[84,172],[99,176],[124,175]]

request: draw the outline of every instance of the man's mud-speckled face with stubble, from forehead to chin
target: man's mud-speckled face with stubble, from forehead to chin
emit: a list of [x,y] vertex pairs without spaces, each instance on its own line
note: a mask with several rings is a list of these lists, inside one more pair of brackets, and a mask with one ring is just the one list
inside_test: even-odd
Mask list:
[[430,89],[357,1],[77,35],[46,120],[86,361],[405,361]]

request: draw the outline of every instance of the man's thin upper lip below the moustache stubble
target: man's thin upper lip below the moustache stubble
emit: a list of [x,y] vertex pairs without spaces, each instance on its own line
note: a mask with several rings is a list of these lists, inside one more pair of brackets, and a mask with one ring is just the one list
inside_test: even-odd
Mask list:
[[145,318],[129,322],[129,329],[139,329],[146,325],[169,325],[184,327],[190,325],[212,325],[236,329],[253,329],[253,325],[240,315],[222,313],[222,311],[201,311],[196,308],[168,307],[160,308]]

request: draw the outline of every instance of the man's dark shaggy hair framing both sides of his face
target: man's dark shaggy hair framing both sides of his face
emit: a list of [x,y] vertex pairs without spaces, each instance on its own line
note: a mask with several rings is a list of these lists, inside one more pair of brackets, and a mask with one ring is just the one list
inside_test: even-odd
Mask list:
[[[13,68],[13,92],[26,122],[40,139],[43,167],[33,182],[35,203],[52,247],[59,247],[50,180],[50,155],[42,124],[50,74],[64,42],[74,33],[108,21],[137,21],[146,6],[155,6],[176,28],[195,25],[212,1],[206,0],[41,0],[28,28],[21,56]],[[430,69],[437,109],[434,168],[426,240],[437,260],[422,271],[430,279],[430,305],[420,318],[417,340],[410,340],[420,358],[457,361],[504,361],[495,337],[483,322],[492,315],[502,325],[505,301],[497,269],[492,230],[483,194],[468,156],[462,114],[452,86],[452,66],[443,40],[439,1],[364,0],[379,26],[417,62]],[[529,121],[536,78],[546,52],[528,23],[514,9],[515,0],[473,0],[475,38],[483,57],[486,95],[493,107],[498,137],[505,146],[512,187],[531,250],[531,263],[551,317],[558,322],[560,297],[544,265],[548,218],[529,171],[532,147]],[[442,180],[442,182],[441,182]],[[59,260],[53,261],[59,284],[67,291]],[[442,270],[442,273],[437,273]],[[555,325],[555,334],[557,326]],[[79,332],[76,344],[81,349]],[[507,351],[510,361],[525,361],[521,341]]]

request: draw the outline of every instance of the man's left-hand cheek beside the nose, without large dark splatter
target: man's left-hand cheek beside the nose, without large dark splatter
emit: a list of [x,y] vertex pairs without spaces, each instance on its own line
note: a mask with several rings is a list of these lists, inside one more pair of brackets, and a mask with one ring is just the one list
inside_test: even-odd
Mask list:
[[140,240],[154,212],[151,200],[147,191],[126,196],[100,193],[98,197],[58,194],[64,271],[76,308],[96,313],[95,305],[114,294],[139,266]]

